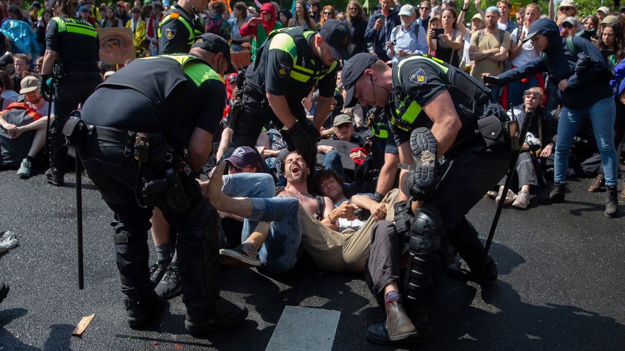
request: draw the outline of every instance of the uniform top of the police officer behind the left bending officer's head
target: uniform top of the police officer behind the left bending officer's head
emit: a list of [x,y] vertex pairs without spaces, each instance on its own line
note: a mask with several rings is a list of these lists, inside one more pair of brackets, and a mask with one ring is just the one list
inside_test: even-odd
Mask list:
[[[169,16],[168,19],[167,16]],[[182,7],[175,7],[163,16],[159,28],[161,36],[159,38],[159,55],[186,54],[189,52],[195,37],[204,34],[204,28],[199,30],[193,27],[191,18],[192,16]],[[186,24],[183,21],[186,21]]]

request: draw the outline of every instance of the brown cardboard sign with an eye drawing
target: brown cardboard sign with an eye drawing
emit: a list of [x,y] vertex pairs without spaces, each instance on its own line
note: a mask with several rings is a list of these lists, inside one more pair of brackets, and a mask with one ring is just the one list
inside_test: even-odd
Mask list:
[[100,39],[100,61],[113,66],[136,58],[130,28],[97,28],[96,31]]

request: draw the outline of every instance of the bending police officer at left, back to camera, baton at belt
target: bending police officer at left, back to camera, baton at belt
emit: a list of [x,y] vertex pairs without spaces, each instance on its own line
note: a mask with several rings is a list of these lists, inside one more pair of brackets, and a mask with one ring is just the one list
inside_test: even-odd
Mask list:
[[[117,264],[131,327],[149,322],[163,302],[148,271],[146,240],[155,206],[178,230],[186,329],[202,332],[247,316],[243,305],[219,297],[219,214],[195,178],[221,121],[226,87],[220,75],[234,71],[229,61],[227,42],[204,34],[188,54],[133,61],[84,104],[88,133],[78,152],[116,215]],[[114,109],[103,108],[111,101]]]

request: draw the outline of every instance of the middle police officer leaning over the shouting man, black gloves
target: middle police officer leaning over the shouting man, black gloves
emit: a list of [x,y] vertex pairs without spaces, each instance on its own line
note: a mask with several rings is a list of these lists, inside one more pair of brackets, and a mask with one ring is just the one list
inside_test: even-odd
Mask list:
[[[244,106],[234,122],[231,149],[256,146],[262,127],[272,121],[282,128],[289,150],[310,160],[332,104],[337,60],[349,58],[347,44],[349,28],[336,19],[324,22],[319,32],[302,27],[271,32],[247,67]],[[319,99],[309,124],[301,101],[316,84]]]

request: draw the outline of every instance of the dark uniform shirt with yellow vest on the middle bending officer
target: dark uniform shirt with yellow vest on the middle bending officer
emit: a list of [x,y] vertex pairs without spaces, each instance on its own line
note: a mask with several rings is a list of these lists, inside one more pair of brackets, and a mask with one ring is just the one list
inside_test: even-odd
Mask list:
[[[306,38],[308,42],[307,48],[310,47],[310,42],[314,37],[314,32],[309,33]],[[296,52],[296,47],[292,44],[293,42],[292,37],[286,33],[276,34],[269,42],[266,42],[261,54],[264,65],[259,67],[259,72],[254,72],[254,65],[250,65],[246,74],[247,82],[256,91],[261,92],[263,96],[266,92],[282,95],[291,103],[293,101],[299,102],[306,97],[312,86],[314,86],[314,82],[319,79],[319,95],[332,97],[336,87],[337,62],[334,62],[331,66],[326,66],[312,55],[310,49],[307,49],[305,52]],[[297,67],[294,67],[294,64],[296,64],[294,62],[294,54],[296,54],[297,65],[306,67],[312,73],[302,72]],[[302,82],[293,77],[299,76],[307,80],[306,77],[311,74],[313,78],[312,84]]]

